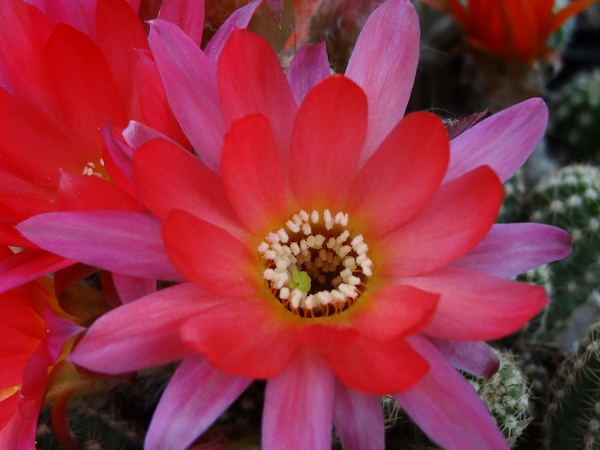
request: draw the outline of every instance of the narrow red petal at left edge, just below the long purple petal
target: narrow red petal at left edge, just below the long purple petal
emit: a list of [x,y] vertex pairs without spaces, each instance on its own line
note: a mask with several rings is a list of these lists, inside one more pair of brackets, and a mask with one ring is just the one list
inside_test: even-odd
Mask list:
[[23,250],[0,260],[0,293],[72,264],[75,264],[75,261],[53,255],[45,250],[35,248]]

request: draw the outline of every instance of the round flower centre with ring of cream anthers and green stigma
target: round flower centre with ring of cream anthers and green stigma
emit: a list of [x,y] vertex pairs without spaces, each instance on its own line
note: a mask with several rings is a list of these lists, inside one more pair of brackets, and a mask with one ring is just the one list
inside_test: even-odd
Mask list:
[[281,304],[300,317],[327,317],[355,304],[373,261],[348,214],[300,211],[258,246],[263,277]]

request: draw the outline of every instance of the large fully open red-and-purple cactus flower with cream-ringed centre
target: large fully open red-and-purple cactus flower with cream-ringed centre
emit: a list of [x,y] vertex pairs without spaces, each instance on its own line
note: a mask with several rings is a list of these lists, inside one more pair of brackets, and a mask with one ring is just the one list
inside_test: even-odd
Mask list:
[[451,142],[439,118],[404,116],[419,51],[408,0],[373,13],[343,76],[321,45],[286,77],[245,30],[216,68],[172,24],[153,22],[149,40],[195,153],[164,139],[135,150],[148,214],[18,226],[65,257],[156,278],[172,264],[185,280],[102,316],[71,357],[104,373],[183,361],[145,448],[187,448],[263,379],[266,450],[330,449],[332,425],[346,448],[383,449],[382,394],[447,449],[507,449],[455,368],[497,369],[481,341],[547,302],[506,278],[570,251],[554,227],[494,225],[502,182],[544,132],[543,102]]

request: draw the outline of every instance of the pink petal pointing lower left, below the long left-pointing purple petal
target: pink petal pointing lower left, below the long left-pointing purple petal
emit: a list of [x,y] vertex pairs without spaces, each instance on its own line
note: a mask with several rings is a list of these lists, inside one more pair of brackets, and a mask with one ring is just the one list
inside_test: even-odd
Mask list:
[[119,374],[183,359],[192,352],[179,337],[181,325],[224,303],[192,283],[163,289],[96,320],[69,360],[96,372]]

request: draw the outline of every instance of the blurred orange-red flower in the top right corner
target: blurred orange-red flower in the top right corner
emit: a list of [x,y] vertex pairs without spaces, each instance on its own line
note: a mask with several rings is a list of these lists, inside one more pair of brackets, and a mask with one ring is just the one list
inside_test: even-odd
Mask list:
[[598,0],[575,0],[553,11],[555,0],[421,0],[442,12],[451,12],[476,48],[505,61],[533,64],[555,59],[548,38],[569,18]]

